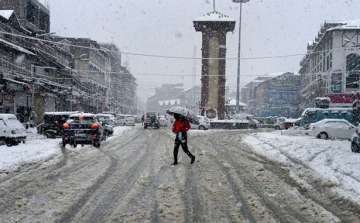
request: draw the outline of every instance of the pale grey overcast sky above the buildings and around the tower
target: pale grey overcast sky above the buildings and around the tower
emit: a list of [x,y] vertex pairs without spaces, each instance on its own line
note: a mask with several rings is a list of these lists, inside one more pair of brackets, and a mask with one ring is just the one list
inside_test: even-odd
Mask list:
[[[58,35],[113,42],[122,51],[201,56],[201,34],[193,19],[212,11],[212,0],[49,0],[51,30]],[[238,21],[232,0],[217,0],[217,10]],[[327,20],[360,19],[359,0],[250,0],[244,5],[242,57],[304,53]],[[238,30],[228,34],[227,57],[236,57]],[[301,56],[246,60],[242,85],[257,75],[297,72]],[[123,55],[146,98],[163,83],[200,84],[201,61]],[[196,63],[195,63],[196,62]],[[196,78],[193,74],[196,65]],[[227,61],[227,85],[235,89],[236,60]],[[159,76],[151,74],[160,74]],[[165,76],[166,75],[166,76]],[[183,75],[183,76],[181,76]],[[194,80],[196,83],[194,83]]]

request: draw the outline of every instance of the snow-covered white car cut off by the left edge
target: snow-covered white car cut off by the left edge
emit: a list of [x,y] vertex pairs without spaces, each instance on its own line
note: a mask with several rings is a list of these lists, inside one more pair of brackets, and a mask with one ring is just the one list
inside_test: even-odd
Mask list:
[[0,139],[7,146],[15,146],[26,141],[25,127],[13,114],[0,114]]

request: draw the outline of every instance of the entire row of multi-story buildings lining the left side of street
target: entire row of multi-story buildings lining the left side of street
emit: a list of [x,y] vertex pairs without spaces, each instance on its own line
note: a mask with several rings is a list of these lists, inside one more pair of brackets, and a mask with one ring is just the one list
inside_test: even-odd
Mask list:
[[[136,79],[116,51],[90,39],[43,35],[50,30],[44,14],[37,0],[0,1],[0,112],[40,123],[44,112],[135,111]],[[111,98],[121,100],[112,105]]]

